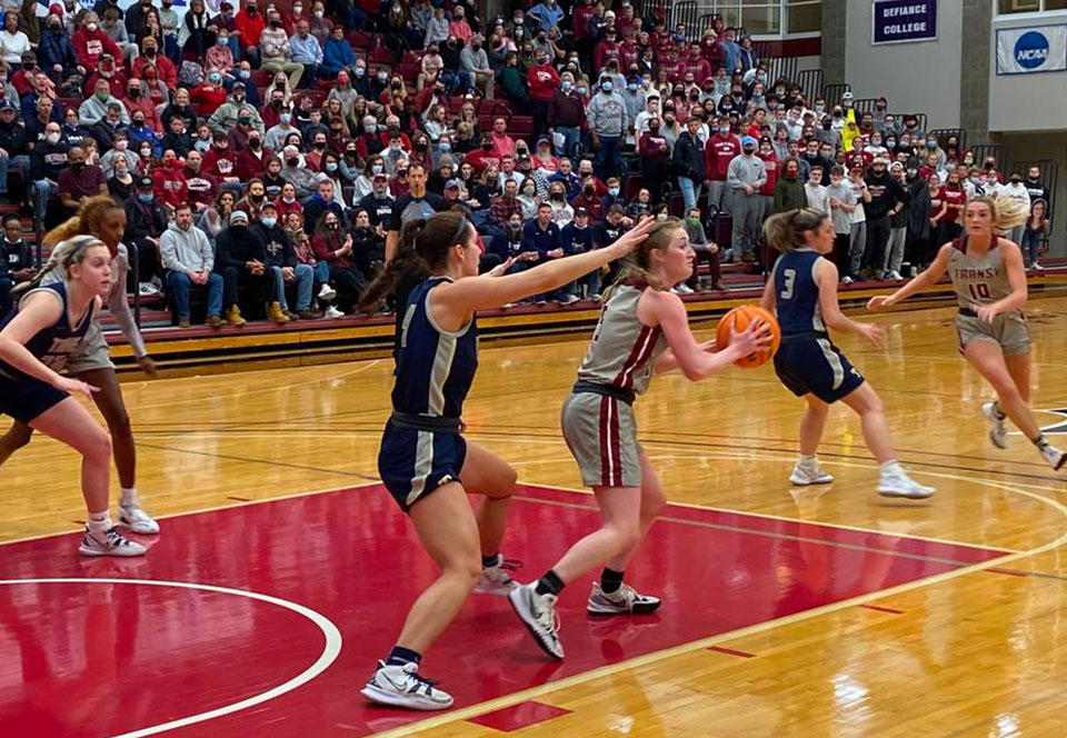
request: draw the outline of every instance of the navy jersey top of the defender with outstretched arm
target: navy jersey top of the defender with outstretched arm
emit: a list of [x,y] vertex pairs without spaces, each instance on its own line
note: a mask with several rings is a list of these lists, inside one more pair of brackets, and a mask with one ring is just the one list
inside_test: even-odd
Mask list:
[[430,313],[433,288],[451,281],[430,277],[411,290],[393,353],[397,359],[392,408],[398,412],[459,418],[478,369],[478,326],[440,330]]

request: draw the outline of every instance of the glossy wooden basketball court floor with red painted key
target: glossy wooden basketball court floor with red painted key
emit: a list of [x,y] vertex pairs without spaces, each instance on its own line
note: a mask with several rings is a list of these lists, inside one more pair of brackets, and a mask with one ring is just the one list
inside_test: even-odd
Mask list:
[[[1067,298],[1028,316],[1061,446]],[[177,517],[143,561],[87,561],[74,455],[34,439],[2,468],[0,735],[1061,738],[1067,487],[1020,436],[991,447],[951,317],[864,318],[885,350],[839,341],[927,502],[875,493],[844,407],[820,455],[836,481],[791,488],[802,407],[769,366],[654,378],[640,438],[675,505],[628,578],[665,607],[591,621],[575,582],[559,666],[477,597],[425,661],[457,695],[442,714],[358,694],[433,576],[373,486],[391,361],[126,383],[138,487]],[[468,437],[525,485],[503,547],[523,581],[596,520],[558,427],[587,340],[483,348],[467,403]]]

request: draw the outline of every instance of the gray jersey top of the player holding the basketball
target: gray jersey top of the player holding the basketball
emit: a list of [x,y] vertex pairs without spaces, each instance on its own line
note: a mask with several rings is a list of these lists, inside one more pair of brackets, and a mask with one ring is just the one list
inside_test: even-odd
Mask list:
[[645,289],[620,285],[600,311],[592,343],[578,369],[578,379],[610,385],[642,395],[656,359],[667,348],[659,326],[649,328],[637,317]]

